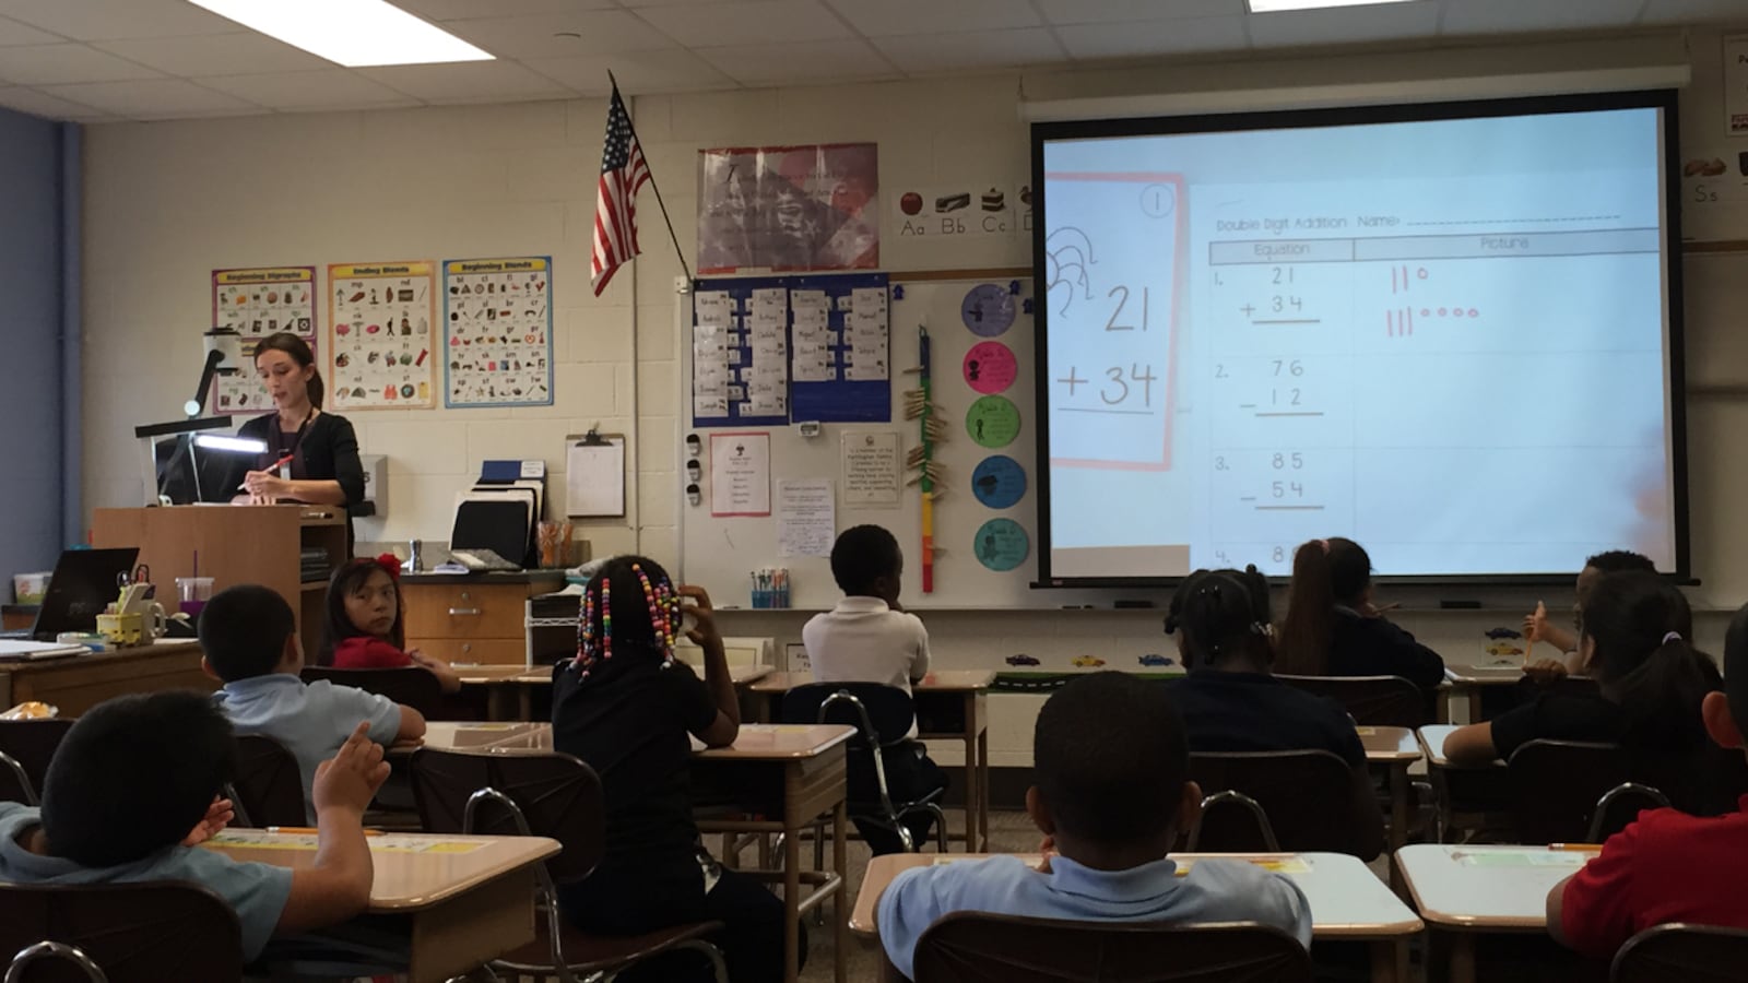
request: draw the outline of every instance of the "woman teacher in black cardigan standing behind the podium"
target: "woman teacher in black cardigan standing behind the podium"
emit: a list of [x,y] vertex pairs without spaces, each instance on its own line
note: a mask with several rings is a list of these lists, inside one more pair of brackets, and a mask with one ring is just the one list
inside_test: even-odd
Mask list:
[[[309,343],[278,332],[255,345],[255,374],[273,395],[276,413],[238,429],[239,437],[267,444],[255,469],[243,476],[246,500],[281,500],[353,507],[364,500],[358,434],[344,416],[322,413],[322,373]],[[278,464],[285,462],[287,464]]]

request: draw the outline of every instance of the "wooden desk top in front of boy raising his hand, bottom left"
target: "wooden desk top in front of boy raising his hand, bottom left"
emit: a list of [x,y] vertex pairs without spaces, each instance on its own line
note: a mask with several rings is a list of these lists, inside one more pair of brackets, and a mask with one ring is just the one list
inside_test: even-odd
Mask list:
[[[225,829],[203,843],[232,861],[274,868],[308,868],[316,859],[316,838],[264,829]],[[435,836],[385,833],[371,836],[371,913],[407,913],[430,908],[496,876],[540,862],[559,852],[544,836]]]

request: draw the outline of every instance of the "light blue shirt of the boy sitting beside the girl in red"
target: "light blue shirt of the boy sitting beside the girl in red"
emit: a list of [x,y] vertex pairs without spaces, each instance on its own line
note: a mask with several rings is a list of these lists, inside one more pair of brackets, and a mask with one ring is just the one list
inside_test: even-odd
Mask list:
[[213,700],[231,717],[238,736],[267,736],[292,752],[304,780],[304,812],[311,824],[316,810],[309,805],[309,785],[316,778],[316,764],[334,757],[360,722],[369,721],[371,740],[385,747],[400,733],[399,703],[325,679],[304,684],[283,672],[255,675],[224,684]]

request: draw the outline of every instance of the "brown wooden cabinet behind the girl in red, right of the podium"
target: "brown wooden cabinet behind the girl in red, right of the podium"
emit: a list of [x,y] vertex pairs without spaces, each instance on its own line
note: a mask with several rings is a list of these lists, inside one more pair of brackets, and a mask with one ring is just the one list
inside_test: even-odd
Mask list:
[[558,572],[406,575],[407,649],[460,665],[528,665],[528,598],[563,586]]

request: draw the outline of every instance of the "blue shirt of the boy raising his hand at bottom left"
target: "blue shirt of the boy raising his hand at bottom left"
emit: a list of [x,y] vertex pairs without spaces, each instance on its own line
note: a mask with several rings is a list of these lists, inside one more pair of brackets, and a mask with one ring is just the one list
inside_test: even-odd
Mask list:
[[[285,901],[292,896],[290,868],[245,864],[201,847],[166,847],[149,857],[115,868],[82,868],[66,857],[31,854],[17,843],[42,810],[17,803],[0,803],[0,882],[5,883],[143,883],[187,880],[206,887],[236,911],[243,929],[243,960],[253,960],[280,924]],[[117,817],[115,822],[128,822]],[[52,845],[51,845],[52,848]]]

